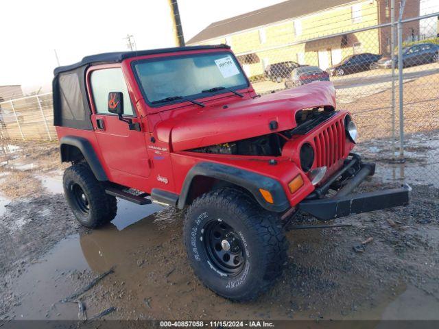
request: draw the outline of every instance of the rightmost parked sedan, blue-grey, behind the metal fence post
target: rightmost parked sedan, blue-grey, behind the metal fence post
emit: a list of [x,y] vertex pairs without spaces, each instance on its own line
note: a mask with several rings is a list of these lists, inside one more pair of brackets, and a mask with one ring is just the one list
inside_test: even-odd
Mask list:
[[[394,57],[395,67],[398,66],[398,56]],[[439,61],[439,45],[434,43],[420,43],[403,49],[403,67],[428,64]],[[390,69],[392,59],[389,57],[381,58],[378,67]]]

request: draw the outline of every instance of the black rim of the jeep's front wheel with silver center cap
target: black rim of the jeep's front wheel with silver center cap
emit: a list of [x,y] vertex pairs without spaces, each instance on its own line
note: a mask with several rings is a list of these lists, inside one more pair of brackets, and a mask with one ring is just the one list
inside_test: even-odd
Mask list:
[[210,263],[228,276],[236,276],[246,263],[242,239],[224,221],[206,223],[203,232],[204,247]]

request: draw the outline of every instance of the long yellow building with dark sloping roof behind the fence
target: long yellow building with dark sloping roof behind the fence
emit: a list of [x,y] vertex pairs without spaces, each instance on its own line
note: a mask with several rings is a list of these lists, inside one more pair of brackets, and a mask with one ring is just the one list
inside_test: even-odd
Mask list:
[[250,77],[287,61],[327,69],[353,53],[380,53],[379,29],[307,40],[379,24],[388,5],[380,1],[289,0],[212,23],[187,45],[230,45]]

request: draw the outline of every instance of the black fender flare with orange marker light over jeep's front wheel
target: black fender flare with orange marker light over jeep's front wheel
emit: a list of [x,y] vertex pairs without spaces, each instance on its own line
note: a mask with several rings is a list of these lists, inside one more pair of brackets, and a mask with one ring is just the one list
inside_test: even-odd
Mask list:
[[[195,176],[206,176],[230,182],[237,186],[246,188],[254,199],[266,210],[274,212],[283,212],[289,208],[289,201],[285,195],[285,191],[280,182],[244,169],[230,167],[225,164],[213,162],[199,162],[189,170],[186,175],[185,182],[178,197],[178,208],[182,209],[187,203],[187,197],[191,188],[191,183]],[[259,192],[259,188],[270,191],[273,197],[273,203],[266,202]]]

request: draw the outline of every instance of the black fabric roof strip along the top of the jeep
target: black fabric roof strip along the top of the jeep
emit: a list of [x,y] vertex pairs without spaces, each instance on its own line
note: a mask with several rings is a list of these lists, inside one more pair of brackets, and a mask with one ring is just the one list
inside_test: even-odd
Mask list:
[[154,53],[171,53],[176,51],[189,51],[189,50],[202,50],[202,49],[218,49],[225,48],[230,49],[228,45],[211,45],[211,46],[188,46],[188,47],[174,47],[174,48],[162,48],[151,50],[139,50],[139,51],[117,51],[114,53],[98,53],[97,55],[86,56],[78,63],[59,66],[54,70],[54,75],[58,75],[62,72],[72,71],[78,69],[81,66],[95,63],[119,63],[126,58],[132,58],[137,56],[152,55]]

